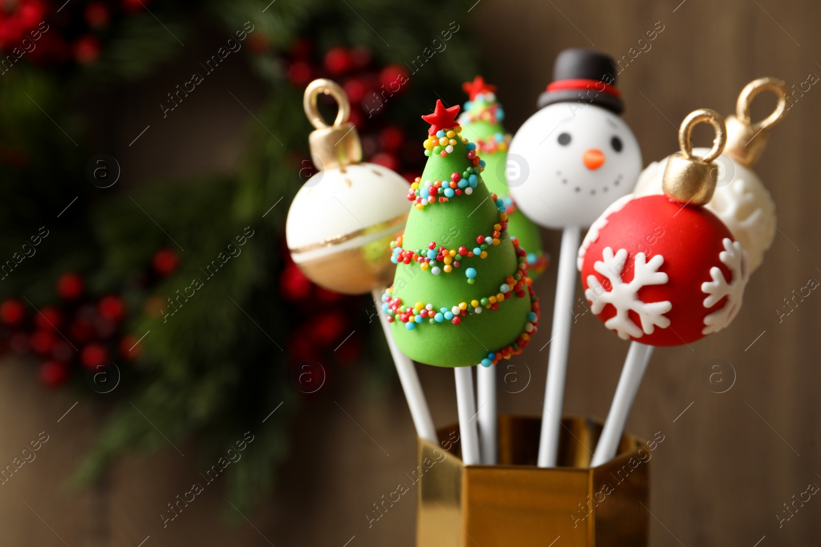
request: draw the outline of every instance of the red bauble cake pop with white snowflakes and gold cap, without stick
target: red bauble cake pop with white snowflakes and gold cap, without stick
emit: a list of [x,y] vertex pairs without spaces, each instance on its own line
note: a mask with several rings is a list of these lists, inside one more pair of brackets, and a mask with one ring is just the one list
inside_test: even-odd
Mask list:
[[[692,126],[716,128],[713,149],[692,155]],[[749,278],[746,253],[702,207],[713,195],[712,162],[725,141],[707,109],[682,122],[681,154],[667,166],[665,195],[625,196],[590,227],[579,252],[585,296],[624,340],[674,346],[717,332],[736,317]]]

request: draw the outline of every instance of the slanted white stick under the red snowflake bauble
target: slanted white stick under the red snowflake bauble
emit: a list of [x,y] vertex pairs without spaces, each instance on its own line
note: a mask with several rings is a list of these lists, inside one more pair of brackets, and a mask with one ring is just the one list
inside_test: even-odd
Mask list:
[[610,405],[608,419],[604,422],[602,436],[599,437],[599,444],[596,445],[596,452],[593,454],[590,467],[608,463],[616,457],[621,434],[624,433],[627,417],[630,416],[635,394],[639,390],[651,355],[653,355],[653,346],[631,342],[624,361],[624,368],[621,369],[616,394],[613,395],[613,402]]

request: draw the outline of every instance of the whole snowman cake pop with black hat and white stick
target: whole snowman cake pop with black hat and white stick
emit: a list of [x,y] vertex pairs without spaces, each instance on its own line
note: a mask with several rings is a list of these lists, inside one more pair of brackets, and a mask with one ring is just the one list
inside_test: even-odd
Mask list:
[[624,110],[611,57],[566,49],[540,110],[516,132],[507,153],[507,185],[530,220],[562,230],[548,354],[539,467],[557,462],[580,232],[615,200],[631,192],[641,151]]

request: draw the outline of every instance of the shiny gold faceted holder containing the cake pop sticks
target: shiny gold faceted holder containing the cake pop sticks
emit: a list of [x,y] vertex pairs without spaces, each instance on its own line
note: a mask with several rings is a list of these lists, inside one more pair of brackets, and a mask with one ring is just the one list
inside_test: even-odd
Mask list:
[[538,417],[499,416],[493,466],[461,461],[456,425],[438,446],[420,439],[416,545],[646,547],[652,449],[623,435],[616,458],[589,468],[602,423],[566,417],[562,467],[536,467],[540,428]]

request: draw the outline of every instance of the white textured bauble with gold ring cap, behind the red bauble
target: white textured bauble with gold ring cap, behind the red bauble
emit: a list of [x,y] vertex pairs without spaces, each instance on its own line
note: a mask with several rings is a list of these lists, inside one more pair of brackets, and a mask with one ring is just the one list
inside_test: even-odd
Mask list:
[[[763,91],[776,93],[775,111],[764,121],[750,121],[750,104]],[[764,151],[767,132],[782,120],[787,107],[787,86],[776,78],[759,78],[747,84],[736,102],[736,115],[727,116],[727,147],[716,158],[718,179],[715,193],[705,207],[714,212],[747,252],[750,271],[764,261],[776,232],[775,203],[764,183],[752,170]],[[693,153],[704,156],[707,148]],[[663,194],[662,178],[669,157],[644,168],[635,185],[636,195]]]

